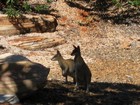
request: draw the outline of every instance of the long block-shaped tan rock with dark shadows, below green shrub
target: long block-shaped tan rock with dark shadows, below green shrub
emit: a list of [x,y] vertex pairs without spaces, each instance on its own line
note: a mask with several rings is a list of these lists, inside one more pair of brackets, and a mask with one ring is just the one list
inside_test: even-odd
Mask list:
[[17,18],[0,15],[0,35],[53,32],[56,27],[56,18],[51,15],[23,15]]

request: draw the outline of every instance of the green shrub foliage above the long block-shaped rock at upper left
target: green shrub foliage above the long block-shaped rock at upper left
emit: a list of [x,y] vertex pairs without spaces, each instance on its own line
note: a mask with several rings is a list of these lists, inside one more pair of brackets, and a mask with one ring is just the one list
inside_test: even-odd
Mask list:
[[[26,0],[3,0],[0,3],[4,4],[2,9],[9,17],[21,16],[23,13],[40,12],[42,10],[49,11],[49,3],[52,0],[47,0],[48,4],[31,6]],[[48,12],[46,12],[48,13]]]

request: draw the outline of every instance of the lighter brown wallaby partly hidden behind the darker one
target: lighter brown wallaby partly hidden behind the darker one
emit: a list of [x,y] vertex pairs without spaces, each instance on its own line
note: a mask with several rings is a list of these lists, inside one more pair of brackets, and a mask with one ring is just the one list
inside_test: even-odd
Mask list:
[[62,75],[65,77],[65,82],[68,82],[68,76],[73,78],[75,83],[75,70],[74,70],[74,60],[64,59],[61,53],[57,50],[57,54],[51,59],[52,61],[58,61],[59,66],[62,69]]

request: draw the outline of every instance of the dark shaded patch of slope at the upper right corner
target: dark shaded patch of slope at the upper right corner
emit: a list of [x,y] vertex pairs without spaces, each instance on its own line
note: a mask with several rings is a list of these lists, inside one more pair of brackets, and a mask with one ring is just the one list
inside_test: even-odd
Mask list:
[[95,0],[89,3],[66,1],[71,7],[77,7],[85,11],[89,11],[91,16],[98,16],[104,21],[111,21],[113,24],[139,24],[140,8],[131,6],[125,1],[119,8],[113,4],[111,0]]

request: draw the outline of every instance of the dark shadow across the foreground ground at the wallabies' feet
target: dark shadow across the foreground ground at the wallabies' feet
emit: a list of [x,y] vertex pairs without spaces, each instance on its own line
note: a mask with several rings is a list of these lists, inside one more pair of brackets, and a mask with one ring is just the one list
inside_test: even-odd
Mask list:
[[22,99],[23,105],[138,105],[140,86],[92,83],[90,93],[74,91],[74,84],[49,81],[46,88]]

